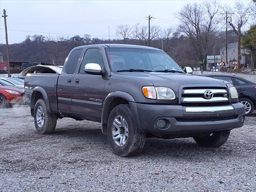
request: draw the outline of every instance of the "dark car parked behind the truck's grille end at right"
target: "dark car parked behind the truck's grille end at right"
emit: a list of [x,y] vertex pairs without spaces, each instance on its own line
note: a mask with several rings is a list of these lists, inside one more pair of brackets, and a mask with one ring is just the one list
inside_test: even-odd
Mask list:
[[202,76],[208,76],[232,83],[238,92],[239,101],[245,106],[246,115],[250,115],[253,110],[256,109],[256,83],[234,75],[207,74]]

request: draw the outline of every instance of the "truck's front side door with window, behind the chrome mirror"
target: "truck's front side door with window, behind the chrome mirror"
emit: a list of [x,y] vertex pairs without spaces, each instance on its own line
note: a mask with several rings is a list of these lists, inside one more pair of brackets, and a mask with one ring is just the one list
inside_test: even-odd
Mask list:
[[106,97],[104,92],[105,80],[102,75],[87,74],[84,66],[88,63],[97,63],[104,70],[102,54],[98,48],[86,50],[78,73],[72,82],[72,113],[82,119],[100,122],[102,104]]

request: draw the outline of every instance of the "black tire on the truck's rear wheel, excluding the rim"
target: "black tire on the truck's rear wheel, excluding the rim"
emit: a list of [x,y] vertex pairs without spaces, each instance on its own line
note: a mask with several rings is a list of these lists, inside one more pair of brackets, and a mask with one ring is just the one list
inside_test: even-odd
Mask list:
[[[40,108],[41,107],[41,108]],[[38,108],[42,109],[42,114],[44,115],[44,123],[42,127],[40,127],[36,121],[36,113]],[[39,134],[51,134],[54,132],[57,122],[57,116],[56,114],[51,114],[48,112],[46,104],[43,99],[39,99],[34,107],[34,124],[36,127],[36,131]]]

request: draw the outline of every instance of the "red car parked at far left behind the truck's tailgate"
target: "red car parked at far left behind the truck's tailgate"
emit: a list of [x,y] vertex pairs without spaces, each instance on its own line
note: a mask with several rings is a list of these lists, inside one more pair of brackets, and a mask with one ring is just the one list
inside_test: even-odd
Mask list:
[[12,104],[24,104],[23,96],[24,90],[0,85],[0,108],[6,108]]

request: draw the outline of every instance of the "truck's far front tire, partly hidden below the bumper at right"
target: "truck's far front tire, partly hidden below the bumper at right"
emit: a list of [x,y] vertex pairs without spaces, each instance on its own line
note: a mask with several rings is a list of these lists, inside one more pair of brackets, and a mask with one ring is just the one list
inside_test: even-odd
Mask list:
[[219,147],[228,140],[229,134],[230,130],[216,131],[206,136],[194,137],[194,140],[203,147]]

